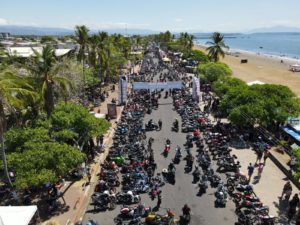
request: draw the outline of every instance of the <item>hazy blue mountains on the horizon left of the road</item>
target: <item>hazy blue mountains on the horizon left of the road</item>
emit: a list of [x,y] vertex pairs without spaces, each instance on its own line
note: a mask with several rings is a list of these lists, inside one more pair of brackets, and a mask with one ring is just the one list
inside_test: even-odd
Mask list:
[[[103,29],[103,30],[91,30],[91,33],[97,33],[98,31],[106,31],[110,34],[119,33],[119,34],[155,34],[158,32],[146,29]],[[0,25],[0,33],[9,32],[13,35],[55,35],[55,36],[64,36],[74,34],[74,30],[66,28],[48,28],[48,27],[34,27],[34,26],[12,26],[12,25]]]

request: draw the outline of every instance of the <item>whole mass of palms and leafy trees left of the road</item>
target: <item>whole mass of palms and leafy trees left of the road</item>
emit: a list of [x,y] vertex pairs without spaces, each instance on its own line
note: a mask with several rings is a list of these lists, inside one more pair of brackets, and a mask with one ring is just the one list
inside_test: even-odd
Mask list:
[[54,182],[85,160],[90,140],[103,135],[110,123],[66,102],[82,98],[84,85],[117,80],[126,64],[139,59],[131,51],[149,40],[106,32],[90,35],[85,26],[77,26],[73,37],[58,39],[77,41],[77,60],[72,54],[58,58],[52,47],[56,38],[44,36],[41,42],[47,45],[42,52],[34,51],[26,60],[5,57],[0,64],[3,167],[8,181],[8,169],[15,170],[12,185],[18,189]]

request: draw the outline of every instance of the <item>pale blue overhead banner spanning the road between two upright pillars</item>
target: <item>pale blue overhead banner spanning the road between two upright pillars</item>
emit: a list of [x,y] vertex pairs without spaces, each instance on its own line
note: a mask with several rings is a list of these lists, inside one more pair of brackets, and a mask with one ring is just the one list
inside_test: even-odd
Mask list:
[[150,83],[150,82],[134,82],[133,83],[134,90],[181,89],[181,88],[182,88],[181,81],[157,82],[157,83]]

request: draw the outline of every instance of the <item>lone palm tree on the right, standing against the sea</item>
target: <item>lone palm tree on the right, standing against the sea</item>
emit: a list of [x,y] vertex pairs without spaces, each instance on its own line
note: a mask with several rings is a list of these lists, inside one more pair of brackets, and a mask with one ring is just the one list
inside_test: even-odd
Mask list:
[[208,57],[211,61],[217,62],[220,59],[220,56],[224,57],[225,52],[224,48],[229,49],[227,45],[224,43],[224,35],[221,35],[219,32],[213,33],[211,36],[212,41],[208,41],[206,44],[210,46],[206,48],[208,51]]

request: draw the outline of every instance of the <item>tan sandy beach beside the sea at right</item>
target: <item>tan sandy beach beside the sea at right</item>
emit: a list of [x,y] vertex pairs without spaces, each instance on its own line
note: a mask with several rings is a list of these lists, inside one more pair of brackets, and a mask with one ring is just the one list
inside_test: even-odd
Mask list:
[[[195,45],[196,49],[204,50],[203,46]],[[245,82],[259,80],[268,84],[281,84],[288,86],[298,97],[300,97],[300,72],[289,71],[289,66],[296,63],[292,59],[281,59],[258,55],[255,53],[232,51],[226,54],[221,61],[229,65],[233,70],[233,76]],[[241,64],[241,59],[248,59],[248,63]],[[299,63],[299,62],[298,62]]]

